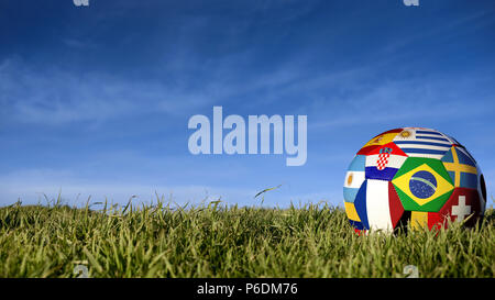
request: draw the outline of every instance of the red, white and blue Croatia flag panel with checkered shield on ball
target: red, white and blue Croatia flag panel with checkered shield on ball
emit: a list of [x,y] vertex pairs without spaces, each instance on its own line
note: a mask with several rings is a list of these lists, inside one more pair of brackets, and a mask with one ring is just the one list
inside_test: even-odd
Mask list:
[[392,180],[407,155],[394,143],[374,148],[366,155],[365,178]]

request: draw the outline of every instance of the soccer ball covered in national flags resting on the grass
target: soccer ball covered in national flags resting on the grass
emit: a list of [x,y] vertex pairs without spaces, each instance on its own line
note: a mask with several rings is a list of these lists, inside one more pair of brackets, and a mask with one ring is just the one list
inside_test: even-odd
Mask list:
[[358,232],[409,223],[473,226],[485,211],[480,167],[455,138],[424,127],[376,135],[352,159],[343,187],[345,212]]

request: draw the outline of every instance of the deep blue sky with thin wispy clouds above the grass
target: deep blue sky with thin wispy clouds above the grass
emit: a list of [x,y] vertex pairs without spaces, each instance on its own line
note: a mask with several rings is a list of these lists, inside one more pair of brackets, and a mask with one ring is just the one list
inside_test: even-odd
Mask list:
[[[0,3],[0,205],[342,204],[372,136],[437,129],[495,177],[493,1]],[[308,159],[191,155],[194,114],[308,116]],[[490,205],[490,202],[488,202]]]

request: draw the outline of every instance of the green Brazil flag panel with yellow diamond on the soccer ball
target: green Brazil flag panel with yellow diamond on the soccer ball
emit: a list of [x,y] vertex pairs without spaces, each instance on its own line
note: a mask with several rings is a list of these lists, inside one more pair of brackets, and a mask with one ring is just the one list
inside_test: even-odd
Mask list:
[[392,179],[407,211],[438,212],[454,189],[441,160],[408,157]]

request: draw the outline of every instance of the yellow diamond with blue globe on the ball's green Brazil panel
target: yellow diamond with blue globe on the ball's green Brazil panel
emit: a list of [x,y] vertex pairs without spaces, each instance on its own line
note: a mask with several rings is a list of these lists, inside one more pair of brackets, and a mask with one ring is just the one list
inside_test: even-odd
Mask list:
[[453,189],[448,180],[427,164],[409,170],[392,182],[419,205],[425,205]]

